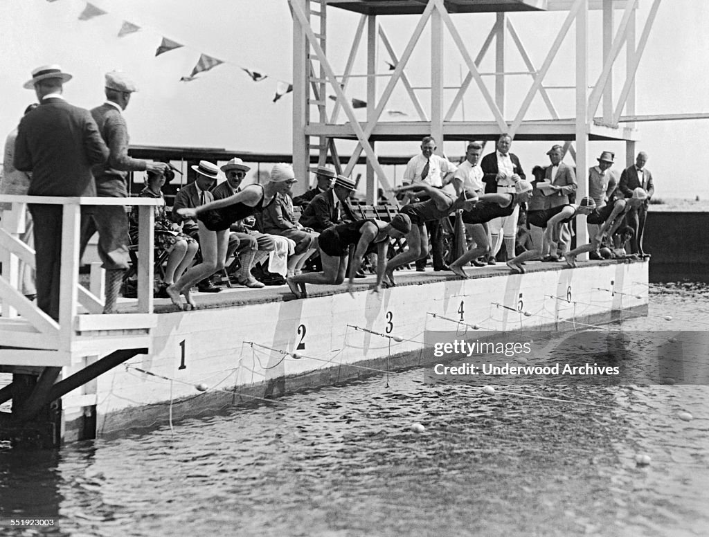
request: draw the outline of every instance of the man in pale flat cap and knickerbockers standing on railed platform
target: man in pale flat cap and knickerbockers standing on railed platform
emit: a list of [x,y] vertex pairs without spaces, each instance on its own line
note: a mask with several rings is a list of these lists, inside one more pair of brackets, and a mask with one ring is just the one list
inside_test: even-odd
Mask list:
[[[128,171],[162,174],[167,169],[167,164],[163,162],[147,162],[128,157],[128,125],[125,124],[123,111],[128,108],[130,96],[135,91],[138,88],[125,74],[117,71],[106,73],[106,101],[91,110],[96,125],[99,125],[101,137],[111,152],[106,164],[99,164],[93,169],[96,196],[101,198],[128,198]],[[92,217],[82,226],[82,253],[97,231],[99,257],[106,269],[104,313],[115,313],[123,273],[128,269],[128,216],[125,208],[106,205],[101,210],[94,210]]]

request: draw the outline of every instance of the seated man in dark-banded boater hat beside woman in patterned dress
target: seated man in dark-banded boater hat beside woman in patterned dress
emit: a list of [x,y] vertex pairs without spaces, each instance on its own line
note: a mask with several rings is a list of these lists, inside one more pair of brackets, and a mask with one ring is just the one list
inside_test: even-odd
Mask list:
[[[182,224],[183,233],[188,234],[199,242],[199,225],[197,225],[196,217],[183,217],[178,213],[178,210],[194,209],[199,207],[199,205],[204,205],[214,200],[211,188],[216,184],[216,180],[219,176],[219,168],[206,160],[201,160],[198,165],[190,167],[196,172],[196,178],[191,183],[187,183],[180,188],[177,196],[175,196],[172,205],[172,215],[170,217],[173,222]],[[239,246],[238,237],[230,236],[229,243],[228,249],[236,251]],[[212,283],[211,276],[210,274],[197,283],[197,290],[200,293],[219,293],[221,290]]]

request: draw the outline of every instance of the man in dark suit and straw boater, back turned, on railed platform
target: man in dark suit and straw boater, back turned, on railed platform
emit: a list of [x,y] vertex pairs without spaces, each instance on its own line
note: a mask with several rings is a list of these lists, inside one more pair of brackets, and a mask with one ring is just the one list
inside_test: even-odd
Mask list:
[[[71,78],[58,65],[47,65],[24,85],[40,101],[20,121],[15,142],[16,169],[32,172],[29,196],[96,196],[91,166],[106,162],[108,147],[91,113],[62,96],[62,84]],[[35,224],[37,305],[59,320],[62,205],[28,208]],[[86,217],[82,210],[82,223]]]

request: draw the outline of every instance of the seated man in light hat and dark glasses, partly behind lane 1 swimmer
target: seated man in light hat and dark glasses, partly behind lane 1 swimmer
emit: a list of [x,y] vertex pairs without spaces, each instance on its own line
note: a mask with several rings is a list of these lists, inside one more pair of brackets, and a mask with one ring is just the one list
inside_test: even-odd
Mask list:
[[[212,188],[214,199],[222,200],[240,192],[241,181],[244,180],[246,172],[250,169],[250,166],[244,164],[242,159],[238,157],[234,157],[221,166],[226,181]],[[239,271],[235,273],[237,283],[252,288],[263,287],[264,284],[251,275],[251,269],[266,259],[269,251],[276,249],[274,238],[272,235],[250,230],[244,220],[233,223],[230,227],[230,234],[235,234],[239,239],[236,252],[239,255],[241,266]],[[232,254],[233,252],[227,250],[226,259],[229,259]]]

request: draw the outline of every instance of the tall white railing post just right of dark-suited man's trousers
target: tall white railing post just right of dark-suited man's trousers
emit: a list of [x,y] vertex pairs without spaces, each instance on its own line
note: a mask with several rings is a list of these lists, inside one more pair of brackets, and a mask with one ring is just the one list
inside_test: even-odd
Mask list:
[[77,315],[79,286],[79,232],[81,207],[67,204],[62,213],[62,263],[60,268],[59,327],[62,351],[69,350],[74,317]]

